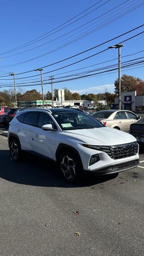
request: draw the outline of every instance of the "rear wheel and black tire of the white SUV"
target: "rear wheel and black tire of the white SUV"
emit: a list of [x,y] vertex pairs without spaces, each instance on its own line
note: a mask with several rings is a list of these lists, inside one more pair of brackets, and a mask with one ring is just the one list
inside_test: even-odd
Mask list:
[[17,139],[10,141],[10,156],[14,162],[20,161],[22,158],[22,150]]

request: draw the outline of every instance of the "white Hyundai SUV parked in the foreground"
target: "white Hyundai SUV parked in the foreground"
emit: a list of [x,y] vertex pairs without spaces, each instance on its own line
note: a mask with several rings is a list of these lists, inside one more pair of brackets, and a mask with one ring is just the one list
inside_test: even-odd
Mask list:
[[26,109],[13,118],[8,144],[14,161],[22,151],[58,163],[65,180],[82,172],[113,174],[138,166],[138,143],[125,132],[105,127],[76,109]]

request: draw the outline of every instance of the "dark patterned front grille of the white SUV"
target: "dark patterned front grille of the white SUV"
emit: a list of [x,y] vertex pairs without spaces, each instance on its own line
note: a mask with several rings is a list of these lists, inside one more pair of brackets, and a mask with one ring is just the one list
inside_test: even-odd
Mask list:
[[108,154],[112,159],[121,159],[134,156],[138,153],[138,143],[131,142],[115,146],[97,146],[97,150],[101,150]]

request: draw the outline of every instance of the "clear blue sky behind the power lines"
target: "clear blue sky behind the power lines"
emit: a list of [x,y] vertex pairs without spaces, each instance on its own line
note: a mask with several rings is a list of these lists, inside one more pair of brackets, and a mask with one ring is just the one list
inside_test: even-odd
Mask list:
[[[4,73],[9,72],[25,72],[28,70],[33,70],[36,68],[40,68],[41,66],[49,65],[53,62],[57,62],[59,60],[62,60],[64,58],[67,58],[69,56],[72,56],[74,54],[77,54],[81,51],[87,50],[97,44],[101,44],[102,42],[105,42],[115,36],[118,36],[124,32],[127,32],[130,29],[133,29],[137,26],[140,26],[144,23],[144,5],[140,6],[133,12],[130,12],[123,16],[122,18],[119,18],[118,20],[115,20],[111,24],[108,24],[107,26],[101,28],[105,22],[108,22],[108,18],[114,16],[114,15],[120,15],[120,12],[124,13],[127,10],[131,10],[138,4],[142,4],[143,0],[101,0],[99,2],[98,0],[94,1],[86,1],[86,0],[55,0],[55,1],[49,1],[49,0],[41,0],[40,2],[37,0],[25,0],[25,1],[2,1],[1,2],[1,12],[0,12],[0,32],[1,32],[1,47],[0,47],[0,76],[2,76]],[[39,36],[49,32],[50,30],[53,30],[55,27],[61,25],[62,23],[66,22],[67,20],[73,18],[80,12],[83,12],[85,9],[89,8],[96,2],[99,2],[99,4],[93,6],[93,8],[89,9],[84,14],[88,13],[89,11],[92,11],[94,8],[97,8],[101,4],[100,8],[97,10],[91,12],[90,14],[86,15],[85,17],[81,18],[77,22],[74,22],[70,26],[67,26],[66,28],[61,29],[60,31],[52,34],[49,36],[47,34],[46,38],[43,40],[40,40],[39,42],[36,42],[30,46],[24,47],[20,50],[10,52],[7,54],[2,54],[3,52],[7,52],[9,50],[12,50],[13,48],[16,48],[18,46],[21,46],[23,44],[26,44],[27,42],[30,42],[34,40],[35,38],[38,38]],[[105,4],[105,2],[107,2]],[[114,9],[111,12],[108,12],[108,14],[105,14],[101,16],[101,18],[97,18],[98,16],[104,14],[108,10],[118,6],[119,4],[124,3],[119,8]],[[112,12],[114,12],[112,14]],[[81,14],[84,15],[84,14]],[[109,16],[108,16],[109,15]],[[81,17],[78,16],[77,18]],[[71,30],[74,30],[78,28],[79,26],[82,26],[83,24],[93,20],[93,22],[90,22],[89,24],[75,30],[74,32],[69,33]],[[75,18],[76,19],[76,18]],[[75,20],[74,19],[74,20]],[[111,18],[112,19],[112,18]],[[72,21],[74,21],[72,20]],[[95,23],[97,22],[97,23]],[[103,23],[102,23],[103,22]],[[70,23],[70,22],[69,22]],[[69,24],[67,23],[67,24]],[[90,26],[91,25],[91,26]],[[86,28],[89,26],[88,28]],[[39,56],[40,54],[43,54],[47,51],[50,51],[51,49],[55,48],[56,46],[59,46],[61,44],[64,44],[68,40],[79,36],[79,34],[84,33],[88,29],[93,28],[94,26],[97,26],[96,28],[100,28],[99,30],[93,32],[92,34],[89,34],[88,36],[85,36],[84,38],[77,40],[73,44],[70,44],[68,46],[65,46],[64,48],[61,48],[60,50],[57,50],[55,52],[52,52],[50,54],[47,54],[41,58],[37,58],[33,61],[26,62],[24,64],[18,64],[14,66],[15,63],[20,63],[24,60],[29,60],[30,58]],[[61,27],[62,28],[62,27]],[[83,31],[80,31],[84,29]],[[44,68],[44,72],[51,71],[56,68],[61,68],[62,66],[71,64],[72,62],[76,62],[82,58],[85,58],[87,56],[90,56],[92,54],[95,54],[96,52],[99,52],[101,50],[104,50],[110,45],[114,45],[118,42],[121,42],[122,40],[125,40],[126,38],[129,38],[130,36],[133,36],[134,34],[137,34],[139,32],[142,32],[144,30],[143,28],[140,28],[130,34],[127,34],[125,36],[122,36],[121,38],[118,38],[117,40],[113,40],[110,43],[107,43],[101,47],[98,47],[94,50],[91,50],[85,54],[82,54],[80,56],[77,56],[75,58],[72,58],[71,60],[67,60],[65,62]],[[69,33],[65,36],[63,34]],[[77,33],[77,34],[76,34]],[[69,37],[71,36],[71,37]],[[55,38],[61,37],[57,40]],[[69,38],[68,38],[69,37]],[[52,41],[53,40],[53,41]],[[62,41],[63,40],[63,41]],[[52,41],[52,42],[49,42]],[[62,41],[62,42],[61,42]],[[37,47],[41,44],[45,44],[43,46]],[[30,50],[31,48],[37,47],[36,49]],[[26,51],[24,53],[20,53],[23,51]],[[128,42],[124,43],[124,47],[121,48],[121,56],[125,56],[128,54],[134,54],[136,52],[144,50],[144,34],[137,36],[136,38],[133,38],[132,40],[129,40]],[[14,56],[10,56],[13,54],[17,54]],[[10,56],[10,57],[8,57]],[[121,61],[130,60],[133,58],[140,58],[144,56],[144,52],[141,52],[139,54],[136,54],[134,56],[128,56],[125,58],[122,58]],[[86,66],[91,66],[94,64],[98,64],[100,62],[105,62],[107,60],[117,58],[118,57],[118,50],[111,49],[107,50],[106,52],[103,52],[102,54],[99,54],[93,58],[89,58],[88,60],[85,60],[83,62],[80,62],[78,64],[72,65],[68,68],[63,68],[59,71],[50,72],[48,74],[43,75],[43,78],[45,79],[45,82],[48,82],[47,76],[55,76],[55,77],[61,77],[65,75],[69,75],[72,73],[65,73],[60,74],[63,72],[69,72],[71,70],[84,68]],[[102,68],[104,66],[108,66],[111,64],[116,64],[117,60],[113,60],[111,62],[107,62],[105,64],[99,64],[97,66],[87,68],[84,70],[75,71],[73,73],[82,72],[86,70],[90,70],[93,68]],[[12,65],[12,66],[10,66]],[[6,67],[4,67],[6,66]],[[143,65],[141,65],[143,66]],[[134,67],[132,67],[134,68]],[[32,77],[32,78],[25,78],[17,80],[17,78],[27,77],[27,76],[33,76],[38,74],[36,71],[17,75],[16,76],[16,84],[23,82],[29,82],[30,79],[37,79],[40,78],[40,76]],[[60,74],[60,75],[58,75]],[[132,70],[126,70],[122,71],[121,74],[128,74],[132,76],[138,76],[142,79],[144,79],[144,67],[142,68],[136,68]],[[5,74],[7,75],[7,74]],[[45,78],[46,76],[46,78]],[[112,74],[105,74],[103,76],[95,76],[91,78],[85,78],[81,80],[74,80],[69,82],[61,82],[54,84],[54,88],[63,88],[64,86],[67,87],[72,92],[79,92],[80,94],[83,94],[85,92],[87,93],[99,93],[104,92],[104,90],[107,88],[109,92],[114,91],[114,80],[117,78],[118,73],[114,72]],[[7,78],[7,77],[6,77]],[[6,79],[6,78],[0,78],[0,79]],[[12,79],[11,77],[8,77],[8,79]],[[27,80],[27,81],[26,81]],[[35,81],[35,80],[31,80]],[[36,80],[37,81],[37,80]],[[12,83],[13,80],[0,80],[0,85],[7,85],[8,83]],[[36,82],[37,83],[37,82]],[[31,89],[37,89],[37,91],[41,90],[41,86],[24,86],[25,90],[31,90]],[[4,87],[1,88],[3,90]],[[5,89],[7,89],[5,87]],[[44,85],[44,91],[51,90],[51,87],[49,84]]]

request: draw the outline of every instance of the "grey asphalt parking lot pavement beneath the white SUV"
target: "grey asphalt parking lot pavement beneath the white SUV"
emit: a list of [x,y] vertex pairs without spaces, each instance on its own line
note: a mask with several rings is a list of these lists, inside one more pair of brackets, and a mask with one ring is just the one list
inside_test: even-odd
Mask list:
[[0,135],[0,256],[50,255],[144,256],[143,147],[137,168],[67,184],[50,161],[13,162]]

